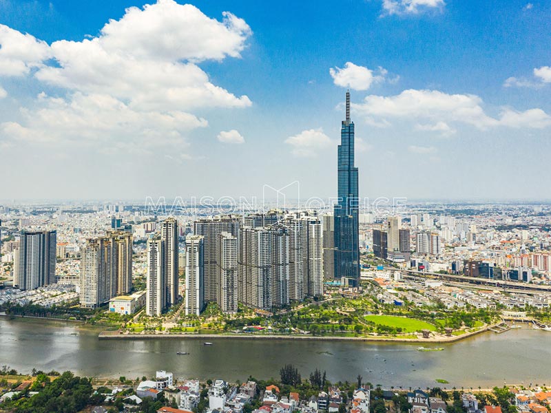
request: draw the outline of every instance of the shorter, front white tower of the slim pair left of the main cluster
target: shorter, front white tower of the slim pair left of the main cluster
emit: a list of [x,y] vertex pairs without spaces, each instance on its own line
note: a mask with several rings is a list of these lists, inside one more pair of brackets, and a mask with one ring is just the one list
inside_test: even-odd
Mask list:
[[147,240],[147,295],[145,313],[159,316],[167,308],[167,273],[165,241],[160,237]]

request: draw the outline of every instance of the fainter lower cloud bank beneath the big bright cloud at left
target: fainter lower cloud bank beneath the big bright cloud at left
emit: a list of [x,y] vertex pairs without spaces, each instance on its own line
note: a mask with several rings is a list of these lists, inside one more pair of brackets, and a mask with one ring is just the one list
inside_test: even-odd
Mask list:
[[69,99],[39,95],[39,107],[22,109],[23,122],[0,124],[0,138],[12,142],[89,145],[148,152],[163,145],[187,147],[185,133],[207,121],[185,112],[136,112],[116,98],[76,92]]

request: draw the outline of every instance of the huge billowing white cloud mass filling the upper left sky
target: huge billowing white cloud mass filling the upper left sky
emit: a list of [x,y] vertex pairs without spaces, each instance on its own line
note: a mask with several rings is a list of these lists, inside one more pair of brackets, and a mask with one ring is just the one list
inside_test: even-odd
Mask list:
[[188,145],[187,132],[207,125],[189,112],[251,105],[196,65],[240,57],[250,35],[247,23],[229,12],[218,21],[174,0],[128,8],[96,37],[51,46],[0,25],[0,74],[34,76],[62,91],[59,98],[39,95],[21,109],[20,123],[1,125],[0,138],[94,140],[105,142],[106,151]]

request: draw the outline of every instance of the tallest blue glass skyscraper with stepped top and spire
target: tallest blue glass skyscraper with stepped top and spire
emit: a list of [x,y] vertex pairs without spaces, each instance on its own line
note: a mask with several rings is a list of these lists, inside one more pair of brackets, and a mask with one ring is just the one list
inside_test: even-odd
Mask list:
[[354,167],[354,123],[350,120],[350,92],[346,92],[346,120],[340,129],[337,151],[338,202],[335,204],[335,278],[360,283],[358,181]]

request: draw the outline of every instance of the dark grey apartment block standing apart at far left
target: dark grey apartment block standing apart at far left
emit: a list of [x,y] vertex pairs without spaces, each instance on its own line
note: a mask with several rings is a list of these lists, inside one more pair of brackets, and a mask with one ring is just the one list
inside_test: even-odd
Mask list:
[[56,231],[21,231],[14,281],[21,290],[56,282]]

